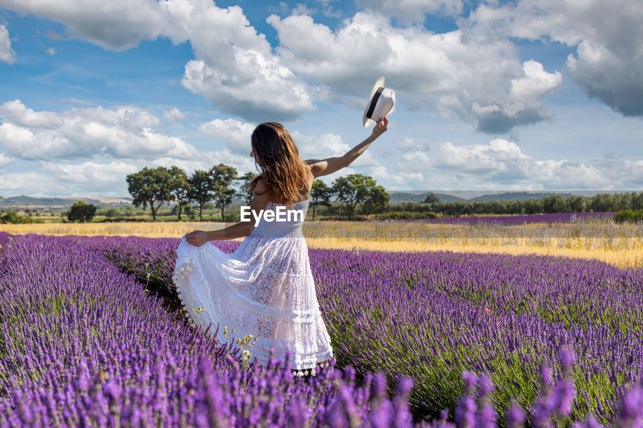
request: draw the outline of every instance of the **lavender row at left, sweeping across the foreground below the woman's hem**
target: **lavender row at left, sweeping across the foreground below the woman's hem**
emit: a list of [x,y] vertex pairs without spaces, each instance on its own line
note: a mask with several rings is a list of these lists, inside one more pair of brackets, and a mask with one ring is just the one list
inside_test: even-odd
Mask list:
[[408,379],[389,400],[381,374],[244,367],[95,250],[0,238],[1,426],[413,426]]

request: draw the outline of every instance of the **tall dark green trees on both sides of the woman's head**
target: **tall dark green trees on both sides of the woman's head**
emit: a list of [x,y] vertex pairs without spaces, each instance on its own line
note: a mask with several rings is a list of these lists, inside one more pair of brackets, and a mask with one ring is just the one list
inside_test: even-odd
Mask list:
[[[179,207],[179,220],[192,203],[199,207],[199,219],[203,220],[203,206],[210,201],[221,209],[223,219],[224,209],[235,197],[243,199],[246,205],[251,203],[253,194],[248,191],[247,185],[254,178],[252,172],[239,176],[235,168],[220,163],[210,170],[195,170],[189,177],[178,166],[143,168],[127,175],[126,180],[132,204],[137,208],[149,206],[152,220],[156,221],[156,213],[161,205],[171,202],[176,202]],[[381,210],[388,204],[388,193],[383,186],[377,186],[372,177],[363,174],[339,177],[331,186],[314,181],[311,190],[313,219],[316,206],[329,206],[331,199],[345,203],[346,215],[350,220],[358,204],[362,204],[363,210]]]

